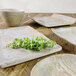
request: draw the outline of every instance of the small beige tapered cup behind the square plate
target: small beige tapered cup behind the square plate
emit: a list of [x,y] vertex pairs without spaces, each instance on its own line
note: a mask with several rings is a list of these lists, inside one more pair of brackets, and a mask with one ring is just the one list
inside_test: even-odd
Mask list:
[[20,26],[24,16],[24,11],[15,9],[3,9],[2,12],[8,26]]

